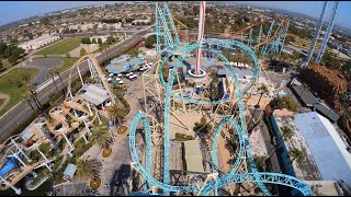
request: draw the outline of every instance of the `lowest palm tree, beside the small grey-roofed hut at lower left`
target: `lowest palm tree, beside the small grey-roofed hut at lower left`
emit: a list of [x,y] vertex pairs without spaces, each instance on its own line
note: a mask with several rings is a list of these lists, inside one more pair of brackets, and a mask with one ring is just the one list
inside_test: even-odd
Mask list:
[[95,179],[100,174],[100,169],[101,163],[97,160],[78,160],[76,175],[79,179]]

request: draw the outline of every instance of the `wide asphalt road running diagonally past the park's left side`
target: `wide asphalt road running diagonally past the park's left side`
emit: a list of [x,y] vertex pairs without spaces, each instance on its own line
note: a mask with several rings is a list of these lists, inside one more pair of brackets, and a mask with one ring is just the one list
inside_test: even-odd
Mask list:
[[[99,56],[97,56],[99,63],[101,63],[107,58],[113,57],[116,54],[122,53],[124,49],[136,45],[140,40],[143,35],[149,33],[149,30],[150,28],[140,31],[135,35],[133,35],[129,39],[126,39],[117,45],[111,46],[106,50],[106,54],[101,53]],[[87,61],[82,61],[79,68],[82,73],[86,73],[89,70]],[[78,79],[79,76],[78,76],[77,69],[72,69],[71,71],[72,71],[72,79],[73,80]],[[61,79],[66,88],[69,83],[69,71],[61,73]],[[56,78],[55,81],[59,91],[63,90],[63,85],[59,79]],[[46,81],[43,85],[39,85],[36,92],[37,92],[37,99],[42,104],[44,104],[48,102],[49,97],[56,92],[56,88],[53,81],[49,80],[49,81]],[[34,102],[32,102],[32,106],[36,109]],[[0,126],[1,126],[0,141],[3,141],[5,138],[8,138],[11,135],[11,132],[14,131],[14,129],[20,124],[22,124],[27,118],[30,118],[33,113],[34,112],[31,108],[31,106],[25,101],[23,101],[20,104],[18,104],[15,107],[13,107],[11,111],[9,111],[7,114],[1,116],[0,117]]]

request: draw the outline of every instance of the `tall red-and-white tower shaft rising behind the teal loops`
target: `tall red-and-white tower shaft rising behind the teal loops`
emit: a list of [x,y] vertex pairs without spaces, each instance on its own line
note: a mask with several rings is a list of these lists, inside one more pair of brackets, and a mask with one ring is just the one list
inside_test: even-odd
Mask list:
[[[200,3],[200,14],[199,14],[199,31],[197,31],[197,42],[201,43],[204,37],[204,26],[205,26],[205,10],[206,10],[206,1],[201,1]],[[201,74],[201,48],[199,47],[196,50],[196,65],[195,65],[195,74]]]

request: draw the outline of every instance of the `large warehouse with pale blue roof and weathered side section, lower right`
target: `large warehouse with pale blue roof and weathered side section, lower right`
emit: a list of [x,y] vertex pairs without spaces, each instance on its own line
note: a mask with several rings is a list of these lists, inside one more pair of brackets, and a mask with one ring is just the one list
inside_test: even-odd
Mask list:
[[[310,182],[310,185],[315,185],[314,192],[324,195],[341,195],[342,189],[338,184],[341,181],[351,184],[350,147],[329,119],[316,112],[308,112],[291,116],[275,114],[270,121],[276,137],[276,153],[283,173]],[[284,126],[292,129],[291,137],[283,131]],[[297,157],[296,152],[301,155]],[[292,190],[291,194],[296,193]]]

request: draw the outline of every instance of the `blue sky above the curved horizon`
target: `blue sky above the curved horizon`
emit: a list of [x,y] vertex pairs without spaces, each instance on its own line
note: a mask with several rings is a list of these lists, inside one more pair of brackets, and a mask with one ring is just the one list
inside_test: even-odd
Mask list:
[[[48,13],[57,10],[82,7],[89,4],[115,3],[116,1],[0,1],[0,25],[24,18]],[[121,1],[120,1],[121,2]],[[251,4],[267,8],[284,9],[319,16],[322,1],[235,1],[241,4]],[[328,10],[331,12],[332,1]],[[327,15],[328,16],[328,15]],[[336,23],[351,28],[351,1],[340,1]]]

